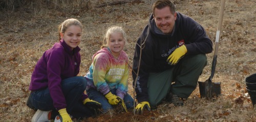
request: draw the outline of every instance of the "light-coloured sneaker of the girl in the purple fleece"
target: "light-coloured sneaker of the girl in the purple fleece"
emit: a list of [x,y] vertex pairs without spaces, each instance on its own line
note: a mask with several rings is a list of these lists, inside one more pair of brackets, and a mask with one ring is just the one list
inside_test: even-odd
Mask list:
[[50,111],[41,111],[41,110],[37,110],[34,114],[34,116],[32,117],[32,122],[45,122],[45,121],[49,121],[48,119],[48,114]]

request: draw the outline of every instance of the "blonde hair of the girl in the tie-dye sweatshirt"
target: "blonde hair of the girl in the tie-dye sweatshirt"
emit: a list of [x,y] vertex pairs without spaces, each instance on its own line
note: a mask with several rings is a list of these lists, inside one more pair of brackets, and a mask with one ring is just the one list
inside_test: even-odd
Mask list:
[[111,26],[108,28],[108,30],[106,31],[105,37],[103,39],[103,44],[100,48],[104,48],[104,47],[108,47],[109,45],[109,40],[110,40],[110,35],[113,33],[121,33],[123,35],[123,39],[124,39],[124,45],[128,44],[127,40],[126,40],[126,33],[123,31],[123,28],[120,26]]

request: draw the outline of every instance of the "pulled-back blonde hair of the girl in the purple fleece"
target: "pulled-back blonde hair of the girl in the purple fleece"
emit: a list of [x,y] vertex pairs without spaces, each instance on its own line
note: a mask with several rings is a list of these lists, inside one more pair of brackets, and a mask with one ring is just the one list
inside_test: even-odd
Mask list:
[[82,30],[82,23],[80,21],[74,18],[67,19],[59,25],[59,28],[58,28],[59,40],[61,40],[60,33],[64,34],[67,31],[67,28],[71,25],[79,26]]

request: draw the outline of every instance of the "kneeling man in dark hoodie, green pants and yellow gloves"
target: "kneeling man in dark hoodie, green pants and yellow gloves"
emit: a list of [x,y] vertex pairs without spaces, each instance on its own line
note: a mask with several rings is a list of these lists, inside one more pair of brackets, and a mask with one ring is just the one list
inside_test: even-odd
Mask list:
[[207,63],[205,54],[211,51],[212,42],[198,22],[176,12],[169,0],[156,1],[133,58],[136,113],[164,100],[182,106],[182,99],[197,87]]

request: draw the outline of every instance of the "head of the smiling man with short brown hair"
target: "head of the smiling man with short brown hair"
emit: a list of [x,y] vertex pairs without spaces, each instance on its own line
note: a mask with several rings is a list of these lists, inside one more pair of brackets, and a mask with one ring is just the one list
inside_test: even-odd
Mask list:
[[175,6],[169,0],[159,0],[153,5],[153,16],[157,27],[164,33],[170,34],[173,31],[177,13]]

